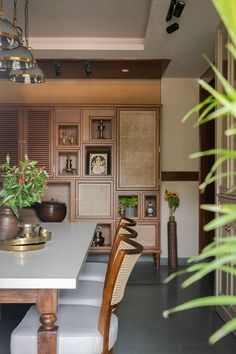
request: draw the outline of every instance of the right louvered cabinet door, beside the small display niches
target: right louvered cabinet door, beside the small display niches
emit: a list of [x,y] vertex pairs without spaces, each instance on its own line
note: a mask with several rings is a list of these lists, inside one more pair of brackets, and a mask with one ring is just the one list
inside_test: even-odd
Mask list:
[[24,110],[25,153],[39,165],[46,166],[52,175],[52,109],[27,108]]

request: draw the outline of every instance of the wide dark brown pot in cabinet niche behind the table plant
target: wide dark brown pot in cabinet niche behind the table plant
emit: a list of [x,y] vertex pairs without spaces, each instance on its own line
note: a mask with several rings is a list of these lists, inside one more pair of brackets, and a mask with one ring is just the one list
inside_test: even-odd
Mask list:
[[65,219],[67,212],[65,203],[54,200],[37,204],[35,209],[40,220],[44,222],[61,222]]

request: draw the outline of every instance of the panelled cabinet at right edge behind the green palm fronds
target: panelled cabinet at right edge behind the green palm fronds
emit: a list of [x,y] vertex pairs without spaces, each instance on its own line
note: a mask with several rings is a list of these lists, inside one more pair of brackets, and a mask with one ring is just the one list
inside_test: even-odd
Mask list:
[[[235,62],[232,55],[226,49],[226,44],[230,42],[228,33],[223,25],[220,25],[217,31],[217,67],[223,76],[236,87],[236,70]],[[216,81],[217,90],[224,92],[219,81]],[[236,150],[236,138],[233,136],[226,136],[225,131],[232,127],[233,117],[228,115],[217,119],[216,124],[216,142],[217,148]],[[236,191],[231,189],[235,186],[236,179],[232,172],[235,172],[235,159],[227,159],[218,168],[218,174],[226,177],[221,177],[217,181],[217,194],[216,202],[218,204],[235,204],[236,203]],[[236,235],[236,222],[226,224],[223,227],[217,229],[217,237],[222,238],[226,236]],[[233,264],[229,266],[235,267]],[[236,277],[232,274],[217,270],[216,272],[216,294],[217,295],[236,295]],[[235,306],[221,306],[217,307],[217,311],[224,320],[235,318],[236,307]]]

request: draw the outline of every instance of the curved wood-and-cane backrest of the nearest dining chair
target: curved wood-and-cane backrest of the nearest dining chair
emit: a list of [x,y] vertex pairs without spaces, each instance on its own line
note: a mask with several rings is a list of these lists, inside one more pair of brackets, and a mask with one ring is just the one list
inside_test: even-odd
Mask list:
[[120,237],[123,237],[123,239],[119,243],[116,257],[110,265],[110,271],[107,273],[99,315],[98,330],[103,336],[102,353],[108,352],[112,310],[122,300],[128,278],[143,251],[143,246],[139,243],[124,235]]

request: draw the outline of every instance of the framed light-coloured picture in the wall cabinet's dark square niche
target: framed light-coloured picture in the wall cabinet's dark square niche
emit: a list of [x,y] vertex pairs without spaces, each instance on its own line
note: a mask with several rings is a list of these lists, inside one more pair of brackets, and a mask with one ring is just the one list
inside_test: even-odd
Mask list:
[[108,152],[89,152],[89,175],[106,176],[108,174]]

